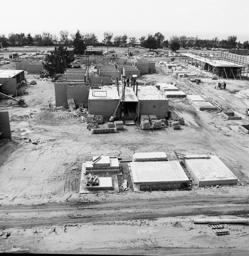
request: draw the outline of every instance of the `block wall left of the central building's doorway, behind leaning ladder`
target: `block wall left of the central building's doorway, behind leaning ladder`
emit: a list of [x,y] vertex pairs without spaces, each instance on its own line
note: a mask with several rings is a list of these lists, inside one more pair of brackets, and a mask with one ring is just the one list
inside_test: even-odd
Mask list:
[[89,99],[88,113],[91,115],[102,115],[107,120],[113,115],[118,101],[118,99]]

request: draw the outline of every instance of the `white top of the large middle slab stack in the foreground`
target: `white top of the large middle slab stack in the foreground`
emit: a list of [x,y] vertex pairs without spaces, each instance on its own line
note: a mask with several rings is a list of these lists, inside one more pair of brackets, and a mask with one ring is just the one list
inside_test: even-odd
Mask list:
[[134,183],[151,182],[188,182],[178,161],[131,162]]

